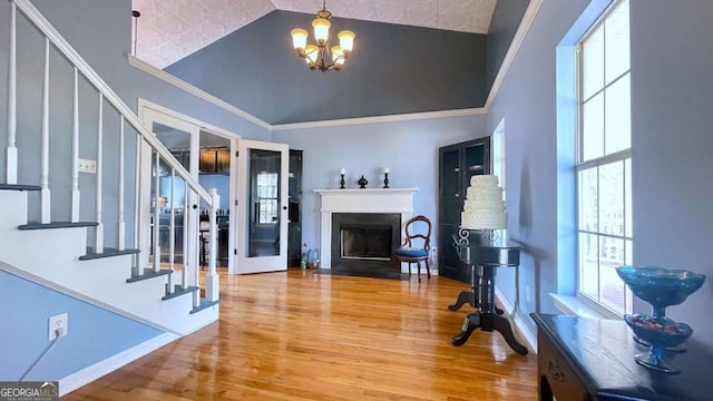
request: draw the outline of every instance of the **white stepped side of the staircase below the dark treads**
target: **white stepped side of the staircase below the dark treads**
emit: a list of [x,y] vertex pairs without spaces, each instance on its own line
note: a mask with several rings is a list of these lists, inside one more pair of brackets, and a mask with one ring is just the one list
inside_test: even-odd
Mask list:
[[91,227],[18,229],[27,224],[27,192],[0,190],[0,261],[25,271],[29,278],[178,334],[217,320],[218,306],[189,314],[191,294],[163,301],[167,276],[126,283],[133,255],[79,261],[87,252]]

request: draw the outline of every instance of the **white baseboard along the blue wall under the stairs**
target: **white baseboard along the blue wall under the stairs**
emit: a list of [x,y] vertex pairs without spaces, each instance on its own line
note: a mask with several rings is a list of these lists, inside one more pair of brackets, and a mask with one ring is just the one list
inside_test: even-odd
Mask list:
[[105,374],[111,373],[127,363],[147,355],[178,338],[178,335],[172,333],[160,334],[126,351],[119,352],[114,356],[109,356],[104,361],[99,361],[91,366],[65,376],[59,380],[59,397],[64,397],[82,385],[89,384]]

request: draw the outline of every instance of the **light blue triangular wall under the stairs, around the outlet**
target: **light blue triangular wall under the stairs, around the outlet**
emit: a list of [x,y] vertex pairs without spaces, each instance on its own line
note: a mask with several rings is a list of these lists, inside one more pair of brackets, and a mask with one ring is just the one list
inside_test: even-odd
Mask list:
[[0,270],[0,381],[18,381],[48,348],[48,319],[68,313],[68,332],[26,376],[58,380],[163,332]]

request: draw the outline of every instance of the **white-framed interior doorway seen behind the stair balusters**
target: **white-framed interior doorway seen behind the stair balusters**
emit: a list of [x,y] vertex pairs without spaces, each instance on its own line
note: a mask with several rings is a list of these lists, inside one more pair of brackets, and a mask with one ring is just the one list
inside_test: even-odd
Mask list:
[[[227,268],[229,273],[234,273],[235,258],[231,250],[234,248],[232,244],[236,242],[237,224],[236,218],[231,218],[231,216],[236,215],[233,205],[235,205],[236,199],[237,188],[235,183],[237,183],[237,179],[233,178],[237,176],[235,155],[240,136],[145,100],[139,100],[139,116],[145,126],[156,135],[156,138],[170,150],[173,156],[206,190],[211,188],[217,189],[221,204],[216,211],[216,265],[217,267]],[[160,207],[165,208],[167,213],[166,222],[163,221],[164,213],[159,213],[158,218],[157,235],[160,257],[163,260],[164,251],[166,250],[167,252],[168,250],[168,213],[173,207],[180,215],[180,218],[176,219],[179,225],[176,227],[174,235],[180,238],[183,229],[187,229],[188,233],[198,232],[199,234],[196,238],[191,237],[186,252],[196,250],[199,263],[207,267],[208,205],[202,202],[195,213],[184,211],[185,204],[195,204],[195,202],[188,200],[186,203],[185,196],[191,196],[191,194],[176,190],[176,188],[184,188],[183,178],[172,176],[168,168],[162,167],[165,166],[160,166],[157,172],[153,172],[150,167],[141,168],[143,172],[146,172],[145,174],[158,174],[157,180],[155,179],[156,177],[152,179],[152,192],[158,192]],[[158,183],[158,188],[154,188],[155,185],[153,183],[155,182]],[[145,199],[141,203],[150,203],[150,200]],[[145,206],[150,207],[150,205]],[[154,222],[148,222],[147,218],[145,224],[153,226]],[[153,233],[156,233],[156,229],[152,229],[152,235],[155,235]],[[164,233],[165,235],[163,235]],[[153,239],[148,243],[153,243]],[[179,241],[176,241],[176,244],[178,243]],[[175,250],[178,258],[183,257],[183,252],[184,250]],[[149,254],[149,252],[146,252],[146,254]],[[192,255],[187,256],[192,257]]]

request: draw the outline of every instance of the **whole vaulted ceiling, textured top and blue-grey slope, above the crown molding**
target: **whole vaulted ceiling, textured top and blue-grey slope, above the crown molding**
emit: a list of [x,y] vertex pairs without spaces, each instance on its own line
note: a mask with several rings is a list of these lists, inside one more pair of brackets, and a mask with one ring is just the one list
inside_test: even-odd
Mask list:
[[331,36],[356,39],[322,74],[290,30],[311,31],[324,0],[131,1],[138,58],[271,125],[484,107],[529,3],[326,1]]

